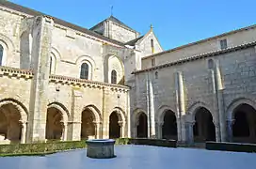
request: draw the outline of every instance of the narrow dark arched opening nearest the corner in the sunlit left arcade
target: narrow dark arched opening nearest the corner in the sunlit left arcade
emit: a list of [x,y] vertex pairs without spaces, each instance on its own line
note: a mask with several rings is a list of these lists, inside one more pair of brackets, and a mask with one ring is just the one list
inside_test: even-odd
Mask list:
[[117,112],[109,116],[109,138],[120,138],[120,124]]

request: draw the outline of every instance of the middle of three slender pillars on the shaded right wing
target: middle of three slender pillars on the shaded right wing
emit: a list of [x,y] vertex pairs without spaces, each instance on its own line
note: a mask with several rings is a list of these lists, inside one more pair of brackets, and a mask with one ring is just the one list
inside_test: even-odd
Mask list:
[[181,71],[176,74],[176,105],[177,105],[177,133],[178,133],[178,141],[185,142],[185,127],[184,127],[184,80],[183,73]]

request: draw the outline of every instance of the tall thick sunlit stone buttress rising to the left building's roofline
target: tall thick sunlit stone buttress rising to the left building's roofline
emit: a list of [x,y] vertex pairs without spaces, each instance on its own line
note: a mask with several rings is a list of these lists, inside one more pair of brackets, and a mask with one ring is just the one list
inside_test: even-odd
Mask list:
[[31,82],[27,142],[45,141],[46,113],[48,105],[49,58],[52,47],[54,21],[47,16],[35,17],[32,26]]

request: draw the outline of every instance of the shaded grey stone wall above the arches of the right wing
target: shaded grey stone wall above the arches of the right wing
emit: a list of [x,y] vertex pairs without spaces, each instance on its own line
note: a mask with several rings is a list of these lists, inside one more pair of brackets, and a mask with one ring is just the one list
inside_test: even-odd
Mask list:
[[[205,107],[213,115],[216,137],[224,139],[222,134],[227,132],[225,131],[226,121],[232,120],[232,111],[235,108],[233,105],[248,103],[253,107],[255,104],[255,58],[255,48],[252,46],[226,54],[216,54],[212,57],[202,57],[162,69],[137,73],[136,85],[131,91],[134,93],[133,100],[135,100],[134,104],[131,104],[131,112],[133,112],[131,116],[135,116],[137,110],[149,115],[148,85],[152,83],[151,98],[154,105],[152,109],[155,123],[159,122],[159,116],[167,109],[174,112],[178,120],[180,118],[180,120],[192,122],[197,109]],[[210,59],[214,61],[213,68],[209,65]],[[182,76],[184,96],[181,96],[178,72]],[[223,100],[220,98],[221,93],[223,93]],[[223,108],[220,104],[223,104]],[[184,122],[181,121],[181,123]],[[178,129],[179,132],[182,130],[183,127]],[[218,133],[221,130],[225,133]],[[182,133],[180,141],[185,140],[185,137]]]

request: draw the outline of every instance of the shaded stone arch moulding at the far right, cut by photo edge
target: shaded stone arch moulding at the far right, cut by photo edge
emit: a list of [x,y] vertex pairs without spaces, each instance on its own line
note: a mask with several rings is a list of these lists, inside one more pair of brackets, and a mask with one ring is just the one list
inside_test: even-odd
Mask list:
[[236,107],[238,107],[241,104],[248,104],[253,109],[256,110],[256,102],[247,98],[239,98],[236,100],[232,100],[232,103],[228,106],[226,113],[227,113],[227,120],[232,121],[234,119],[233,111]]

